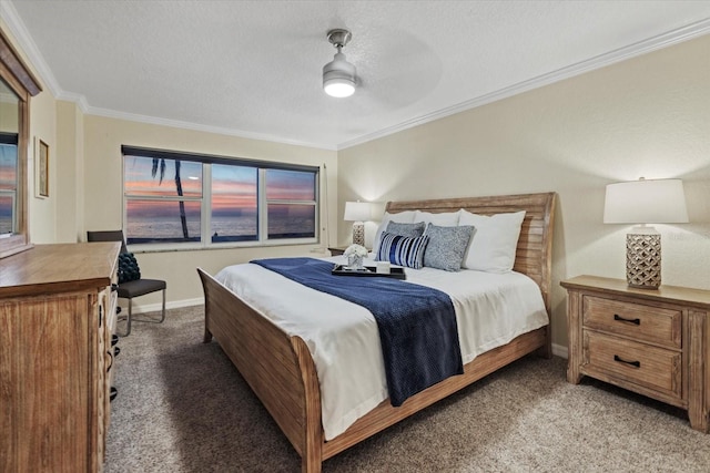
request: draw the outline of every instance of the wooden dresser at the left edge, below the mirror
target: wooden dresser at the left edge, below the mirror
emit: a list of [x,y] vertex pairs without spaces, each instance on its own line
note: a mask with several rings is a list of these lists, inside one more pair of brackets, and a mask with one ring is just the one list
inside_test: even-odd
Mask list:
[[0,471],[103,466],[120,243],[0,259]]

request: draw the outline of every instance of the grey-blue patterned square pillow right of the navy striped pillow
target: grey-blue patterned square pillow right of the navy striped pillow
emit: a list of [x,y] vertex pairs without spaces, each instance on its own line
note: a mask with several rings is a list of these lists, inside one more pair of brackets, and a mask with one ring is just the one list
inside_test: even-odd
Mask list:
[[427,225],[425,235],[429,237],[429,243],[424,251],[424,266],[445,271],[459,271],[473,233],[474,227],[470,225],[458,227]]

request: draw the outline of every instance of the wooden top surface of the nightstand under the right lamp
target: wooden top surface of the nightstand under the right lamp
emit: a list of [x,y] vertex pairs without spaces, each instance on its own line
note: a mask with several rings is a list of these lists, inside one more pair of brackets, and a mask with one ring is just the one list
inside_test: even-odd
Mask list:
[[577,276],[560,282],[564,288],[596,290],[599,292],[633,296],[638,299],[662,302],[680,302],[710,309],[710,290],[680,286],[661,285],[658,289],[637,289],[628,286],[625,279],[601,276]]

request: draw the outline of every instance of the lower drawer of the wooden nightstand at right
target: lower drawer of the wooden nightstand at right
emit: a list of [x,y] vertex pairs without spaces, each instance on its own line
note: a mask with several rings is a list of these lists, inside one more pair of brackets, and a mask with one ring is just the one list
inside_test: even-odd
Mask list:
[[592,331],[584,335],[585,370],[598,371],[621,381],[682,398],[682,354],[680,351]]

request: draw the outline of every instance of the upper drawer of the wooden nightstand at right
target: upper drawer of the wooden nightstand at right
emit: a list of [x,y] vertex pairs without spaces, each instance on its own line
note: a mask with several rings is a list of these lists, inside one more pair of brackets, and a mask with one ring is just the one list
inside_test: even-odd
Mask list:
[[681,347],[680,310],[585,296],[582,325],[669,348]]

